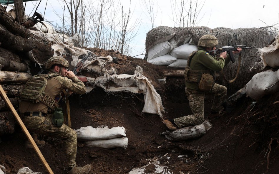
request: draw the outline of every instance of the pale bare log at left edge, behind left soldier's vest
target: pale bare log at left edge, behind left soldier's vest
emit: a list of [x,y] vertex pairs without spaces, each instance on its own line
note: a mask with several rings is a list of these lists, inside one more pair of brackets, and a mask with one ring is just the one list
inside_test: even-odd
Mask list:
[[26,72],[0,72],[0,83],[26,83],[31,78],[31,75]]

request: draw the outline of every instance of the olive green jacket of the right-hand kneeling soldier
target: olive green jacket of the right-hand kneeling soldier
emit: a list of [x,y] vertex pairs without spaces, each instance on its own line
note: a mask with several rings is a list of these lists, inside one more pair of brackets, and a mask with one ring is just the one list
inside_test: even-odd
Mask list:
[[[218,60],[216,57],[212,57],[202,47],[198,47],[197,53],[190,60],[189,67],[191,70],[208,70],[212,76],[215,76],[215,71],[221,71],[225,65],[230,62],[230,57],[227,54],[226,58],[220,57]],[[186,87],[189,89],[195,89],[200,91],[197,82],[186,82]]]

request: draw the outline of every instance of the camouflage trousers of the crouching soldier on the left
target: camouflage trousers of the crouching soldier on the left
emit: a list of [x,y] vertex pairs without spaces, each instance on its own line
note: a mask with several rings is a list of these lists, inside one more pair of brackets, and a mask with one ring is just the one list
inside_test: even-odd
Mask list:
[[21,116],[21,119],[29,131],[63,140],[67,165],[69,168],[73,168],[76,165],[77,133],[65,124],[61,127],[54,126],[50,116],[52,115],[48,114],[47,117]]

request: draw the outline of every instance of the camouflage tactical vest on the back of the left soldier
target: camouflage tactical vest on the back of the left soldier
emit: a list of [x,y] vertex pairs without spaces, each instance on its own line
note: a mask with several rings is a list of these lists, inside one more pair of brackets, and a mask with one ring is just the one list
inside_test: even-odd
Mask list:
[[19,94],[19,99],[32,103],[43,102],[52,110],[59,107],[58,103],[44,92],[47,87],[47,80],[56,76],[58,74],[40,74],[31,77]]

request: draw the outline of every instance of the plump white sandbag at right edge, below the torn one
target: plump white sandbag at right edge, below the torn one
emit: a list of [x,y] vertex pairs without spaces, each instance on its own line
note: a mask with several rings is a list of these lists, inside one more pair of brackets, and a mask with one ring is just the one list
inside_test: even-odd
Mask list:
[[279,91],[278,70],[267,70],[255,74],[246,84],[246,94],[254,100]]

